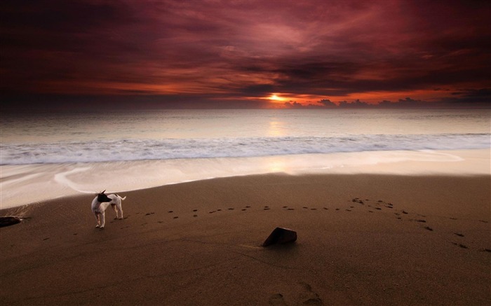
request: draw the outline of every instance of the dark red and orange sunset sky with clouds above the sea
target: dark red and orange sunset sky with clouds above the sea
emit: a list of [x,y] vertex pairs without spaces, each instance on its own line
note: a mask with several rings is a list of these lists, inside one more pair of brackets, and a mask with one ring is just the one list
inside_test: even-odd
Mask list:
[[19,107],[486,106],[491,2],[1,1]]

